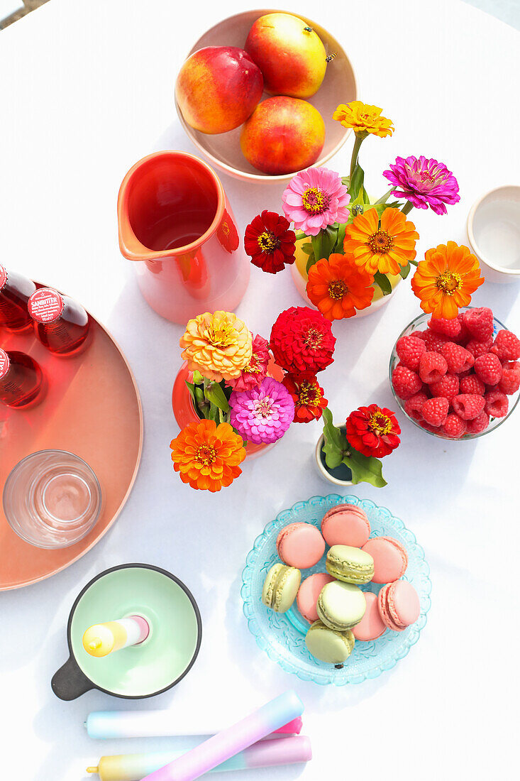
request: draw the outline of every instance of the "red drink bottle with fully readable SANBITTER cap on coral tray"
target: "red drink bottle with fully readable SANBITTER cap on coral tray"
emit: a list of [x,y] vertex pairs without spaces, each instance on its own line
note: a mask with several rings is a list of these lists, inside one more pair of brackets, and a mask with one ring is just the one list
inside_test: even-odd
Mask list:
[[84,347],[90,319],[84,308],[51,287],[41,287],[29,299],[34,330],[48,350],[55,355],[73,355]]

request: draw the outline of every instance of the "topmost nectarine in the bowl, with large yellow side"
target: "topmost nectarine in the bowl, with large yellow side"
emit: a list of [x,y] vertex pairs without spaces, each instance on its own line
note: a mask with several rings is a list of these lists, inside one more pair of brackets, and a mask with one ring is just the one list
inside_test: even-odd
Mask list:
[[249,30],[244,49],[272,95],[310,98],[322,84],[326,51],[317,33],[290,13],[268,13]]

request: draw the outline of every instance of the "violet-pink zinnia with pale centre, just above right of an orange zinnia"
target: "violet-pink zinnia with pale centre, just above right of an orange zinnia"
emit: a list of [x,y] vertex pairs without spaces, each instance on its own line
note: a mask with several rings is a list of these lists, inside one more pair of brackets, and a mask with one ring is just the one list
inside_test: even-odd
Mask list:
[[294,401],[282,383],[265,377],[259,387],[230,397],[230,423],[245,441],[276,442],[294,419]]

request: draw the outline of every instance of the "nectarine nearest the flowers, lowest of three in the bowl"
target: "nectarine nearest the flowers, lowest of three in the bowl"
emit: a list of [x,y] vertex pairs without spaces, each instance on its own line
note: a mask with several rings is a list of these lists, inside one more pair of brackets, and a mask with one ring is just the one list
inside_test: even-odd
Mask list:
[[283,95],[262,101],[240,134],[244,157],[251,166],[270,174],[312,166],[324,141],[325,123],[318,109]]

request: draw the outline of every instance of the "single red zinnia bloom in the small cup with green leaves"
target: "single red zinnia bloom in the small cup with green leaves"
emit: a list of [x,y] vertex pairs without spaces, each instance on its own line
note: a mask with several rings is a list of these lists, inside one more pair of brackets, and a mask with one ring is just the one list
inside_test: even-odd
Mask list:
[[383,458],[397,448],[400,433],[394,412],[386,407],[359,407],[347,417],[347,440],[362,455]]

